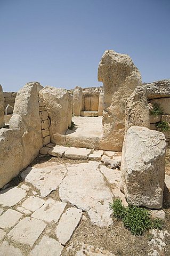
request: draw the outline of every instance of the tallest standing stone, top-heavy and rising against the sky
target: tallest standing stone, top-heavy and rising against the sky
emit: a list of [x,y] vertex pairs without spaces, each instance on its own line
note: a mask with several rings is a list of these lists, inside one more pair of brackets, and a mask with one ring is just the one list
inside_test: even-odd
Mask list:
[[98,81],[103,82],[103,135],[100,149],[121,151],[125,132],[125,103],[141,75],[132,59],[113,50],[104,52],[98,68]]

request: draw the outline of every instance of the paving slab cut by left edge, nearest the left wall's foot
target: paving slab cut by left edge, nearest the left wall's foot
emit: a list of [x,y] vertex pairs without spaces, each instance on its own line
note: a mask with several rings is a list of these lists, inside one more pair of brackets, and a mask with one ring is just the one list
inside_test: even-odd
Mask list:
[[0,193],[0,204],[3,206],[13,206],[19,203],[26,194],[25,190],[18,187],[4,189]]

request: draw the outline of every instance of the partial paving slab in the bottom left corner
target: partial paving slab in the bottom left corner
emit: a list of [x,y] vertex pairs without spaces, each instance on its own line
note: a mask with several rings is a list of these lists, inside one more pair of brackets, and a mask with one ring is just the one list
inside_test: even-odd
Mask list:
[[9,242],[4,241],[0,246],[0,256],[23,256],[18,248],[10,245]]

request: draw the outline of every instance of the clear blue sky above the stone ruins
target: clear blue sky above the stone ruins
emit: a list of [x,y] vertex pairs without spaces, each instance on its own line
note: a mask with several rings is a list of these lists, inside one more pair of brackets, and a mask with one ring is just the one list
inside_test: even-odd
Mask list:
[[107,49],[131,56],[143,82],[169,78],[170,0],[0,0],[0,84],[101,86]]

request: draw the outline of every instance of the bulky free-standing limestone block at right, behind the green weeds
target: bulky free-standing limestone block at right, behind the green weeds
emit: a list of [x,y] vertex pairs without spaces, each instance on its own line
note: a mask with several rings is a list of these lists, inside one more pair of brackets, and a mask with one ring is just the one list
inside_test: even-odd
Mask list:
[[[122,152],[122,186],[131,205],[163,205],[165,136],[146,127],[128,129]],[[132,157],[133,156],[133,157]]]

